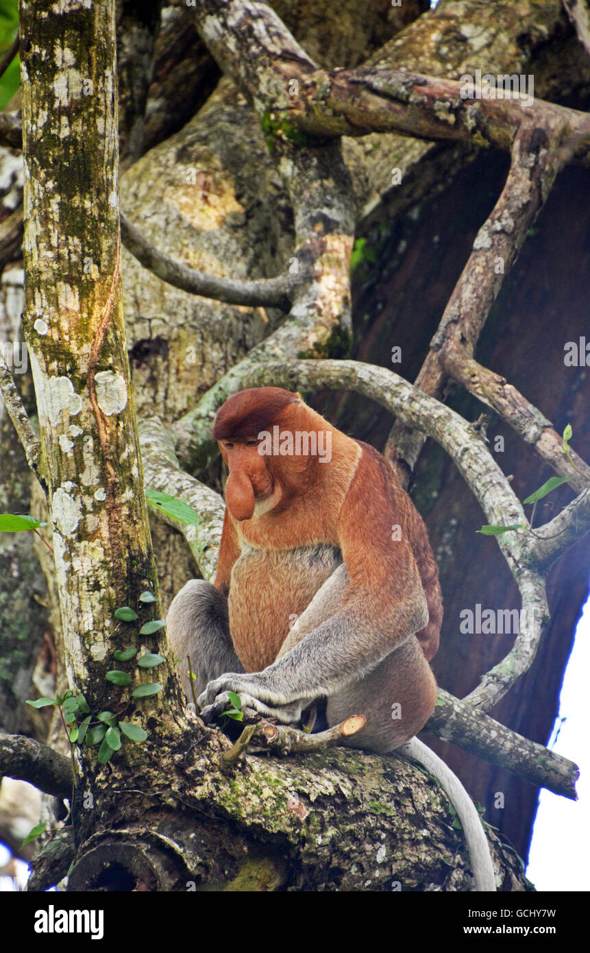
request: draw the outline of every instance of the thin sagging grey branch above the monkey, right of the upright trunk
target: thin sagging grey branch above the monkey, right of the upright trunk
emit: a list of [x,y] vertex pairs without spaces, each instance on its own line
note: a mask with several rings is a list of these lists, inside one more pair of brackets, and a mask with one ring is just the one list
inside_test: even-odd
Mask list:
[[226,301],[228,304],[269,305],[289,311],[295,291],[303,275],[279,274],[276,278],[261,278],[241,281],[218,274],[199,272],[181,265],[168,255],[158,252],[121,213],[121,239],[144,268],[153,272],[162,281],[189,294]]

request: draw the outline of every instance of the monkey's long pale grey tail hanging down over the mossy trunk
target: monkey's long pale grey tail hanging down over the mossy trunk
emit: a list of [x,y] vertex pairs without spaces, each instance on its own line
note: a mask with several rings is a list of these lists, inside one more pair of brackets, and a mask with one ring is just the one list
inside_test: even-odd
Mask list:
[[397,753],[419,761],[437,779],[440,787],[457,811],[458,819],[462,824],[471,869],[476,882],[476,890],[482,892],[496,890],[490,845],[485,836],[476,806],[458,780],[457,775],[453,774],[451,768],[438,758],[434,751],[422,744],[417,738],[412,738],[406,744],[397,748]]

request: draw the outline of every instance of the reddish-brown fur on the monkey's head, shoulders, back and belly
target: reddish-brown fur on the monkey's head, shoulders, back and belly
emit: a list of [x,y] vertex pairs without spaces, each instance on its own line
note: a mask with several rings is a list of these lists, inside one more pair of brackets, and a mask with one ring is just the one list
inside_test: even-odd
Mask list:
[[[240,442],[272,431],[274,425],[293,432],[329,432],[331,462],[320,463],[314,456],[260,456],[257,446]],[[281,493],[266,511],[259,502],[264,496],[254,493],[257,506],[250,518],[235,518],[229,508],[225,515],[214,584],[229,591],[230,633],[245,671],[261,671],[275,660],[283,643],[281,655],[291,647],[290,618],[301,615],[334,569],[312,559],[301,564],[297,548],[333,546],[341,552],[350,578],[343,608],[353,624],[357,619],[359,631],[366,632],[367,658],[382,657],[378,646],[383,633],[393,650],[401,645],[397,633],[417,632],[423,655],[406,645],[374,672],[381,699],[377,704],[385,709],[389,705],[391,714],[392,692],[382,692],[381,682],[393,685],[393,699],[403,704],[397,742],[403,743],[434,709],[436,683],[424,656],[431,659],[437,650],[442,616],[437,564],[410,497],[374,448],[340,433],[298,395],[279,388],[231,397],[215,418],[214,435],[220,438],[230,475],[239,469],[234,508],[245,506],[239,498],[245,474],[254,475],[259,486],[272,481],[273,493],[276,487]],[[234,445],[225,446],[224,441]],[[396,525],[401,538],[393,540]],[[240,554],[246,558],[236,565]],[[408,596],[417,587],[423,588],[428,605],[425,626],[421,608]],[[367,631],[367,618],[373,632]],[[383,717],[391,735],[391,717]],[[375,748],[373,742],[371,746]]]

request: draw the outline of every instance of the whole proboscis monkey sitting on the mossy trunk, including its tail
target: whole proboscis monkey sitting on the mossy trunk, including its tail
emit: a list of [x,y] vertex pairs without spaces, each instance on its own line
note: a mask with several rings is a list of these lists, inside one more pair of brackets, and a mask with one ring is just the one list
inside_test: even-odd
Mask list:
[[174,653],[193,659],[201,717],[220,715],[229,691],[283,722],[324,700],[330,725],[364,715],[345,743],[404,746],[437,777],[476,889],[495,890],[473,802],[414,738],[435,708],[428,660],[442,603],[424,524],[393,469],[278,387],[231,396],[214,437],[229,467],[217,574],[213,586],[188,582],[168,615]]

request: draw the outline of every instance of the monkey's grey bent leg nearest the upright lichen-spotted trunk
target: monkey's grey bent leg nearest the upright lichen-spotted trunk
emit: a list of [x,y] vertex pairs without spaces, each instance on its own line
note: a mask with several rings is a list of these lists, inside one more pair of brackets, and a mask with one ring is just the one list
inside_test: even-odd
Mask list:
[[230,636],[227,597],[204,579],[190,579],[173,598],[166,618],[168,640],[179,665],[180,681],[189,700],[193,699],[188,675],[187,653],[195,675],[194,691],[224,672],[243,672]]

